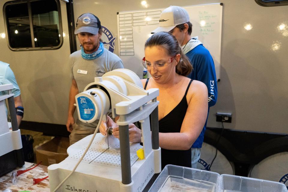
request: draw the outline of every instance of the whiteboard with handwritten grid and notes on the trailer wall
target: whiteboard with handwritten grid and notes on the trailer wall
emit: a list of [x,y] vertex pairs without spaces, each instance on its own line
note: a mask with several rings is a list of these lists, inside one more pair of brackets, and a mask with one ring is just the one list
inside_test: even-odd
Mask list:
[[[185,6],[192,23],[191,37],[198,36],[213,57],[216,77],[220,80],[222,3]],[[117,14],[118,50],[124,67],[143,77],[141,59],[146,40],[159,26],[163,9],[125,11]]]

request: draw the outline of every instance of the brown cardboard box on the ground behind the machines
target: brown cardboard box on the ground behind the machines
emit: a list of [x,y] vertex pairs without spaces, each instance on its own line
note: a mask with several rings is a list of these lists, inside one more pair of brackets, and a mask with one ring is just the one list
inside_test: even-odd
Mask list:
[[42,161],[41,165],[46,166],[60,163],[68,157],[67,148],[69,146],[69,138],[55,137],[36,149],[37,163]]

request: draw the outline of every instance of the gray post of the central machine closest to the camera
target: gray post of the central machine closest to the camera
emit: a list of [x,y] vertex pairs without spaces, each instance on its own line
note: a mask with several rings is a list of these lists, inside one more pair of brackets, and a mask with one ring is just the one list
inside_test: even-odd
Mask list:
[[130,144],[129,144],[129,126],[128,125],[119,126],[119,136],[120,136],[122,183],[130,184],[132,182],[132,179],[131,179]]

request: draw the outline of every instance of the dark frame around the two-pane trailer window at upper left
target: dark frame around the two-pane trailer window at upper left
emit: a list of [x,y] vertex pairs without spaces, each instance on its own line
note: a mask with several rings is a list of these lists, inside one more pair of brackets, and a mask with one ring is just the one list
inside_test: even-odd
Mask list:
[[[33,1],[42,1],[42,0],[17,0],[17,1],[7,1],[3,6],[3,16],[4,16],[4,25],[5,25],[5,32],[7,37],[7,45],[9,49],[12,51],[34,51],[34,50],[54,50],[59,49],[63,45],[63,28],[62,28],[62,18],[61,18],[61,6],[59,0],[54,0],[57,4],[57,11],[58,11],[58,20],[59,20],[59,33],[60,33],[60,42],[58,46],[47,46],[47,47],[35,47],[34,42],[34,29],[33,29],[33,21],[32,21],[32,10],[31,10],[31,2]],[[21,47],[21,48],[13,48],[10,45],[10,34],[8,29],[8,20],[6,17],[6,7],[8,5],[13,4],[22,4],[27,3],[28,6],[28,15],[29,15],[29,23],[30,23],[30,32],[31,32],[31,41],[32,47]]]

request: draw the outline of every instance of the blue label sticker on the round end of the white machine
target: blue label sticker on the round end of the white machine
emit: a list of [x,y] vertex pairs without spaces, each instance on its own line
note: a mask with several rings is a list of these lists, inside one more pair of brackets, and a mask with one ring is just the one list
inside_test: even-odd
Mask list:
[[78,109],[80,118],[89,121],[95,116],[95,106],[88,97],[78,97]]

